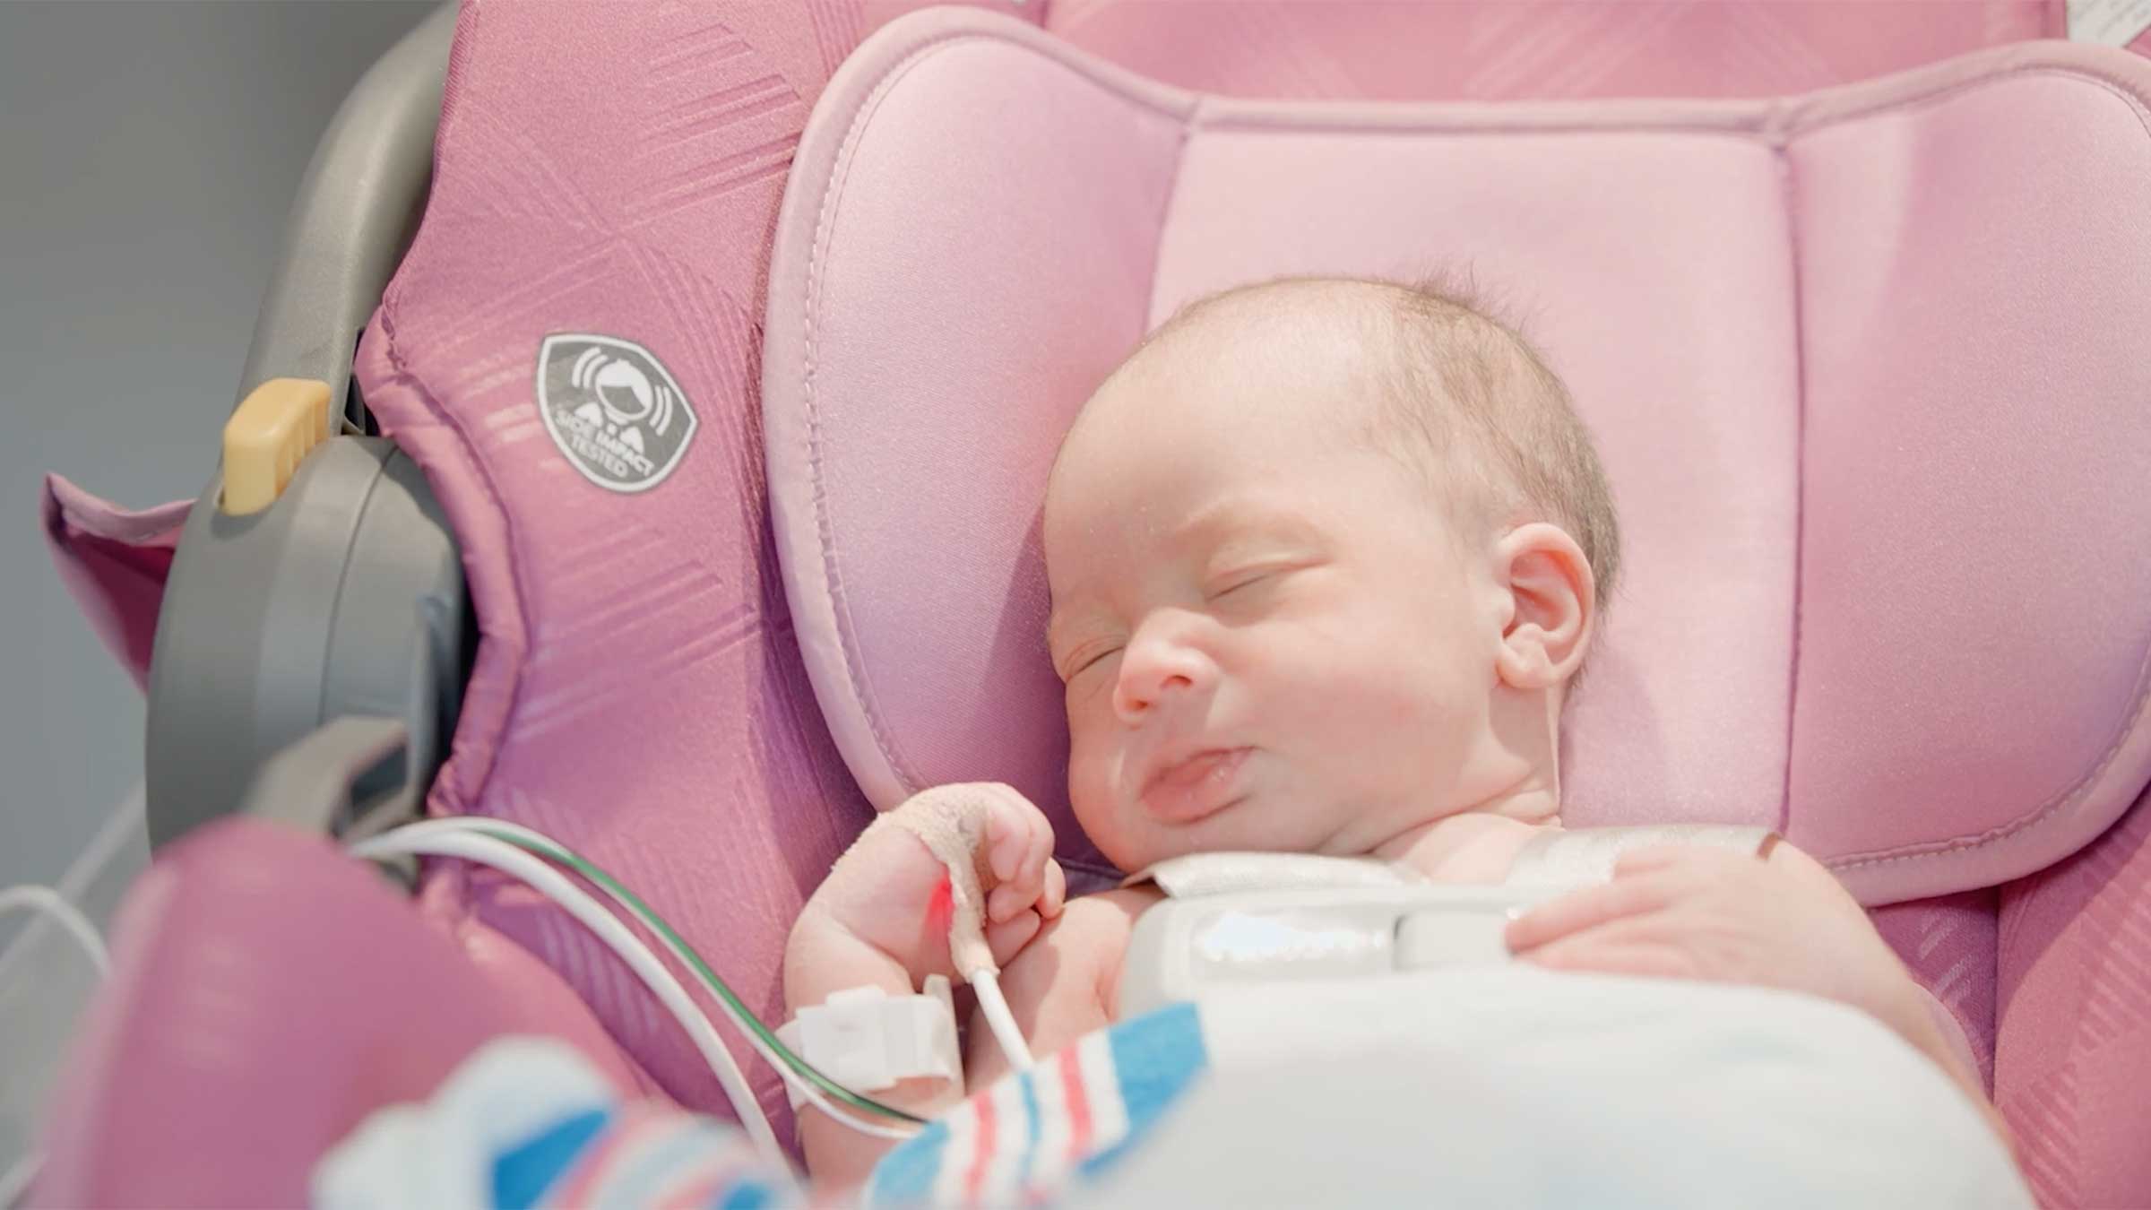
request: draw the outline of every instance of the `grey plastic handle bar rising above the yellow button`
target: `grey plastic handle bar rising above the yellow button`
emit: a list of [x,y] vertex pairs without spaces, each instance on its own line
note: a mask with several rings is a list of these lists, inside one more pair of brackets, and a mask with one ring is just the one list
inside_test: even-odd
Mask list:
[[269,379],[320,379],[329,407],[344,409],[353,342],[426,211],[454,37],[450,0],[389,47],[336,110],[299,181],[237,398]]

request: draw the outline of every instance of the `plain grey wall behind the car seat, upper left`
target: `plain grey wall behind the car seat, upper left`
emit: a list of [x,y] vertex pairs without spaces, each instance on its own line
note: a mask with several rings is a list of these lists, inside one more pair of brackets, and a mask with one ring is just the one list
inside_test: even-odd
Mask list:
[[0,0],[0,885],[60,878],[142,775],[142,698],[52,573],[41,478],[202,489],[314,140],[430,9]]

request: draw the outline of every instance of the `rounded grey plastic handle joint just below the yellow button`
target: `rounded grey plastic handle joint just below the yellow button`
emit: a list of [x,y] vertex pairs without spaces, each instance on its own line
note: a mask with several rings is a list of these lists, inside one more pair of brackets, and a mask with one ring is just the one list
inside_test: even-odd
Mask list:
[[475,650],[462,560],[426,476],[383,437],[331,437],[275,504],[217,506],[181,530],[157,611],[142,747],[153,848],[232,812],[258,771],[344,717],[400,717],[415,810]]

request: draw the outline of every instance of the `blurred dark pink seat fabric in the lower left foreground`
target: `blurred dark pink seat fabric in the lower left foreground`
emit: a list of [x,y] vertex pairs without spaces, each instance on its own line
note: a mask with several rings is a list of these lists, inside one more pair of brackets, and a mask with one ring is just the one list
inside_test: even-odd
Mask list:
[[553,971],[484,926],[437,928],[290,829],[189,835],[129,889],[114,939],[39,1206],[303,1206],[323,1150],[499,1033],[564,1038],[624,1096],[647,1089]]

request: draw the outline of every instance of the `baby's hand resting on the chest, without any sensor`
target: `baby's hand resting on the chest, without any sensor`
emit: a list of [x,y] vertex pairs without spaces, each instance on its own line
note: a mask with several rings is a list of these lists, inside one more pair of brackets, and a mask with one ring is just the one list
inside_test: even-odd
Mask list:
[[1624,855],[1613,881],[1540,904],[1508,947],[1564,971],[1760,984],[1863,1008],[1893,1029],[1923,1014],[1910,973],[1837,878],[1779,844],[1768,861],[1704,846]]

